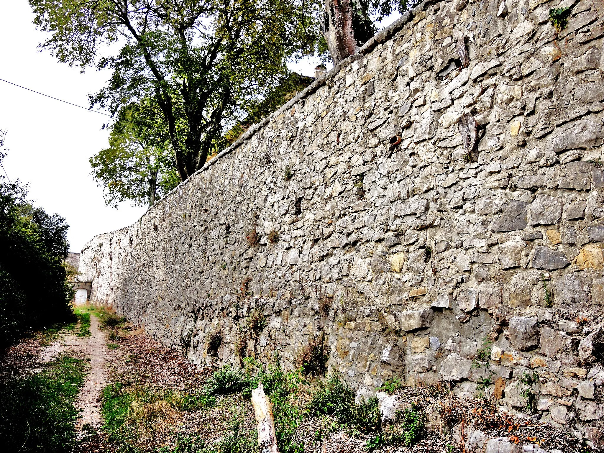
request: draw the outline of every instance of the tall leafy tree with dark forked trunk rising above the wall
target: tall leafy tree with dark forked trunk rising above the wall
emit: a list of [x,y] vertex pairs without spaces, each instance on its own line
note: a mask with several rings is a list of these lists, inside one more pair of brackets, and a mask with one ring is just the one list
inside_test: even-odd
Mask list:
[[286,59],[317,43],[313,4],[301,0],[29,2],[34,24],[50,33],[42,48],[112,70],[91,104],[119,113],[155,101],[183,181],[223,144],[225,127],[278,85]]

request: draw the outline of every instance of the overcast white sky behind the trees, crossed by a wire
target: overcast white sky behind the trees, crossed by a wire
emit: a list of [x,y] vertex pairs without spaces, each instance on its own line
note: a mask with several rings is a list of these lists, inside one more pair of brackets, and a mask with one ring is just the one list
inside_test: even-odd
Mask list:
[[[382,26],[389,24],[389,18]],[[0,1],[0,79],[88,106],[88,94],[109,78],[108,72],[79,69],[37,52],[44,35],[32,24],[27,0]],[[313,75],[316,60],[292,66]],[[71,251],[80,251],[95,234],[134,223],[145,208],[127,203],[104,205],[103,188],[90,176],[88,158],[107,144],[101,130],[107,117],[25,91],[0,81],[0,129],[8,132],[8,177],[30,183],[30,198],[48,213],[59,213],[70,225]]]

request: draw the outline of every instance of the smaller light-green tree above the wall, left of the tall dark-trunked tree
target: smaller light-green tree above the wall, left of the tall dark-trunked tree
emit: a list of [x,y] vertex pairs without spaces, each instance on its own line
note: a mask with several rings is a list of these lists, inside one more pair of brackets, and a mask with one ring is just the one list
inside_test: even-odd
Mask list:
[[135,206],[152,206],[181,182],[169,136],[143,126],[144,118],[131,108],[124,109],[123,117],[111,127],[109,147],[89,159],[91,174],[106,188],[105,204],[118,208],[130,200]]

